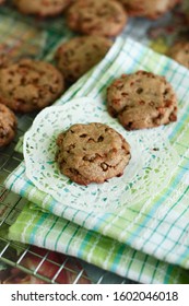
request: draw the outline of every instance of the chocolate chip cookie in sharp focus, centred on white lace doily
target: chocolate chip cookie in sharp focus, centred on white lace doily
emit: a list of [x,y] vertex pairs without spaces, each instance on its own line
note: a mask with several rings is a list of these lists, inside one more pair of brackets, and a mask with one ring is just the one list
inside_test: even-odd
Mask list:
[[73,125],[57,138],[60,172],[80,185],[102,184],[122,175],[130,145],[104,123]]

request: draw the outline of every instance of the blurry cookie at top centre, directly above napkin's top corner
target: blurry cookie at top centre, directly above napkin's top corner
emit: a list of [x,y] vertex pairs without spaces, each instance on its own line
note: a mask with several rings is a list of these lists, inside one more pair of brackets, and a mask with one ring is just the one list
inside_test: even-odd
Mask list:
[[115,0],[78,0],[68,9],[67,22],[82,34],[114,37],[123,30],[127,14]]

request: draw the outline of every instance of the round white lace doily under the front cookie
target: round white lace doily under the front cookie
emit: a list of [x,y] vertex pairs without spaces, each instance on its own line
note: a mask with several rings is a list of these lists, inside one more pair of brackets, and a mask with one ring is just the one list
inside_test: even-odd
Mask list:
[[[73,123],[104,122],[121,133],[131,146],[131,160],[121,177],[81,186],[59,172],[55,162],[57,136]],[[54,199],[84,211],[113,212],[160,192],[172,178],[177,154],[161,128],[126,131],[99,99],[76,98],[39,113],[24,137],[26,176]]]

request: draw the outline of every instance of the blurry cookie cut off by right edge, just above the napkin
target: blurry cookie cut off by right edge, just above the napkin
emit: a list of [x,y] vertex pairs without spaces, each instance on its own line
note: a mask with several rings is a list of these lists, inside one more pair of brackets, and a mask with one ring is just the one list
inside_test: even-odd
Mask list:
[[175,43],[168,56],[189,69],[189,42]]

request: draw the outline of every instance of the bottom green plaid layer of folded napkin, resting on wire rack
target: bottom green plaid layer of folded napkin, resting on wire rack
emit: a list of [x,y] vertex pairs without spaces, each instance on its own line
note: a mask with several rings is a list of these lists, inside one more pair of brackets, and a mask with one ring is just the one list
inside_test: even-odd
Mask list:
[[10,228],[11,239],[60,251],[147,284],[188,284],[188,271],[76,225],[25,205]]

